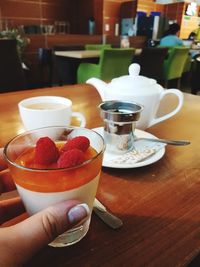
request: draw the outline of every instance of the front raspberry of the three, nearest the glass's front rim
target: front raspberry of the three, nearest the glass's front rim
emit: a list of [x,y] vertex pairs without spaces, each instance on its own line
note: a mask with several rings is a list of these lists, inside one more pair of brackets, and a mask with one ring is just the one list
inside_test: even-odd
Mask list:
[[65,151],[59,157],[57,164],[58,168],[69,168],[80,165],[85,160],[83,151],[75,148]]

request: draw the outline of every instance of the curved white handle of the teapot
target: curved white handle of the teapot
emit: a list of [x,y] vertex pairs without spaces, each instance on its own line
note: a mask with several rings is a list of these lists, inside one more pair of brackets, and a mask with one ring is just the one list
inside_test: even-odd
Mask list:
[[169,113],[167,113],[161,117],[154,118],[148,127],[155,125],[161,121],[164,121],[164,120],[171,118],[176,113],[178,113],[179,110],[182,108],[184,96],[183,96],[183,93],[178,89],[165,89],[160,95],[160,102],[166,95],[170,95],[170,94],[176,95],[178,98],[178,104],[177,104],[176,108],[174,108],[174,110],[172,110],[171,112],[169,112]]

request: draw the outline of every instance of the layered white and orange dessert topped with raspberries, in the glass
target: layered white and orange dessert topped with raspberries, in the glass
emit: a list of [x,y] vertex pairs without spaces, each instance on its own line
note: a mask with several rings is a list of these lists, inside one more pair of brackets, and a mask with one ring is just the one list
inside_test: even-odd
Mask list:
[[85,136],[59,142],[42,137],[9,167],[30,215],[68,199],[87,203],[92,211],[102,156]]

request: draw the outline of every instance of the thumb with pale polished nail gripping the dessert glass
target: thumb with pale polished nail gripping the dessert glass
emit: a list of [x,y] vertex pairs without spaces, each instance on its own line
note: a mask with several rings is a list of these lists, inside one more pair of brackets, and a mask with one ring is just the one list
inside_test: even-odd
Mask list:
[[4,249],[9,251],[0,254],[7,253],[9,260],[15,254],[15,263],[22,263],[59,234],[87,218],[89,213],[87,204],[75,200],[55,204],[14,226],[1,229],[0,244],[5,238]]

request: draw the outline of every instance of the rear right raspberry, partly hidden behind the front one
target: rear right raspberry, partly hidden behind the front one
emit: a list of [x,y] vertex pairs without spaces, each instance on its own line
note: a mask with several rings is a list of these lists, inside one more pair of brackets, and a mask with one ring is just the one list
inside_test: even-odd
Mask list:
[[77,148],[85,152],[90,146],[90,140],[85,136],[77,136],[68,140],[67,143],[62,147],[61,151],[68,151]]

